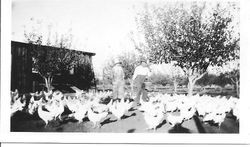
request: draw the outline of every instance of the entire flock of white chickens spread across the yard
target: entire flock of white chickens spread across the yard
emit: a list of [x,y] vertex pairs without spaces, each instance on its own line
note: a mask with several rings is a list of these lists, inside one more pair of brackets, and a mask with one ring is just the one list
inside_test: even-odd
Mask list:
[[[88,92],[76,96],[66,96],[60,91],[31,93],[28,101],[24,96],[19,96],[18,91],[11,92],[11,116],[22,111],[33,115],[36,111],[45,122],[45,127],[50,121],[62,120],[61,115],[68,108],[78,122],[88,118],[93,127],[101,127],[100,123],[113,115],[117,120],[128,113],[134,105],[131,99],[120,101],[110,100],[108,104],[100,103],[101,100],[110,97],[112,92]],[[200,116],[203,122],[212,122],[220,127],[226,114],[231,112],[239,119],[239,99],[235,97],[211,97],[208,95],[185,95],[149,93],[149,101],[140,101],[141,106],[134,110],[142,112],[147,129],[156,130],[157,126],[166,120],[170,125],[181,125],[184,121],[192,119],[194,115]],[[27,103],[27,104],[26,104]],[[177,112],[177,113],[176,113]],[[177,114],[177,115],[176,115]]]

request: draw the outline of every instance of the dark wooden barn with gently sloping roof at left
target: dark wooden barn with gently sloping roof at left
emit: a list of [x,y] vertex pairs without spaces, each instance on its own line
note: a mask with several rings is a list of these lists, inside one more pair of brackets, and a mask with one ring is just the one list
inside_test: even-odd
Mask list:
[[54,77],[52,86],[61,88],[65,92],[70,92],[67,88],[63,88],[67,86],[75,86],[84,90],[95,87],[92,64],[92,57],[95,53],[11,41],[12,91],[18,89],[20,93],[28,93],[44,90],[43,78],[33,70],[34,50],[39,51],[42,56],[49,56],[52,52],[64,50],[73,52],[79,57],[77,66],[69,70],[67,74],[59,73]]

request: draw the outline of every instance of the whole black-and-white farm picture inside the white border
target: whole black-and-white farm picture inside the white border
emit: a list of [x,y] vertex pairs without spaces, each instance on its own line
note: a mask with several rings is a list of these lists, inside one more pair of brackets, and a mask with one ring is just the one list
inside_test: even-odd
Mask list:
[[239,1],[10,3],[10,133],[242,133]]

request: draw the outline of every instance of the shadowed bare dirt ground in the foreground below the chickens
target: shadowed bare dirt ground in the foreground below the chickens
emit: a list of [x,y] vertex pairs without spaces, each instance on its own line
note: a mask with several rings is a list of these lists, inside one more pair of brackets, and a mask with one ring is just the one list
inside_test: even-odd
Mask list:
[[146,130],[142,112],[133,110],[117,121],[112,115],[108,115],[101,122],[101,128],[92,128],[92,123],[86,118],[83,122],[68,118],[64,113],[63,121],[52,121],[47,127],[37,114],[29,115],[25,112],[17,112],[11,118],[11,131],[13,132],[103,132],[103,133],[239,133],[239,123],[228,114],[220,129],[218,126],[204,124],[194,116],[185,121],[181,127],[172,127],[166,120],[157,127],[156,131]]

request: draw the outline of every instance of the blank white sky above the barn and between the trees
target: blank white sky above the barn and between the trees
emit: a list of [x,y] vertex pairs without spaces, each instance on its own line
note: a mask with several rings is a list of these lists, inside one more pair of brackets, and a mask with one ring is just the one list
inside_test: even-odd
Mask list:
[[[131,32],[137,32],[135,17],[143,9],[145,1],[149,2],[13,0],[12,40],[24,42],[24,31],[35,31],[48,36],[49,28],[52,34],[71,33],[72,49],[96,53],[93,66],[95,73],[100,74],[109,58],[127,51],[135,52]],[[157,2],[161,1],[155,0],[153,3]]]

